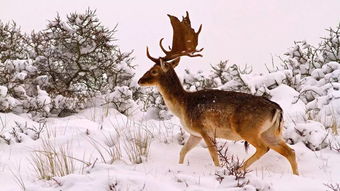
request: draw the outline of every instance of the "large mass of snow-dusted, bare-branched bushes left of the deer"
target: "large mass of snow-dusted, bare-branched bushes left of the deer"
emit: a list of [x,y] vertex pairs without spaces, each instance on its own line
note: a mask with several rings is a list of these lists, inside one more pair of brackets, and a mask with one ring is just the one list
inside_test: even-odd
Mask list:
[[[114,44],[115,31],[91,10],[69,14],[66,21],[58,15],[29,36],[15,23],[0,22],[0,112],[66,116],[89,106],[92,96],[129,87],[132,52],[123,53]],[[129,99],[120,106],[133,102]]]

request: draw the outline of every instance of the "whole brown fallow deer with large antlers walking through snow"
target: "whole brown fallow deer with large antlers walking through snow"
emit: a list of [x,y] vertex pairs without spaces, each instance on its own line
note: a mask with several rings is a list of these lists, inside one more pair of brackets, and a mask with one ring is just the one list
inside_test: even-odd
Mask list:
[[256,148],[256,152],[242,168],[249,167],[269,149],[273,149],[288,159],[293,173],[298,175],[295,152],[281,137],[283,111],[277,103],[240,92],[187,92],[183,89],[174,68],[181,56],[202,56],[195,54],[202,51],[196,50],[202,25],[195,32],[191,28],[188,12],[182,21],[175,16],[168,16],[173,27],[172,47],[169,51],[165,50],[161,39],[159,45],[165,56],[159,58],[150,56],[147,47],[147,57],[155,64],[139,79],[138,84],[156,86],[169,110],[180,119],[184,129],[190,134],[180,151],[179,163],[183,163],[188,151],[202,138],[216,166],[219,166],[219,159],[213,141],[215,138],[245,140]]

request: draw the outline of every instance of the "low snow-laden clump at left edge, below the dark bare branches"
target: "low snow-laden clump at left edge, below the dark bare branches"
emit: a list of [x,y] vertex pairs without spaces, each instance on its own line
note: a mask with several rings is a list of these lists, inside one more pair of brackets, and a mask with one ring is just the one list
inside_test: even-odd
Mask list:
[[[49,112],[50,98],[40,90],[37,69],[32,60],[7,60],[0,63],[0,111],[30,112],[38,107]],[[47,97],[46,97],[47,96]]]

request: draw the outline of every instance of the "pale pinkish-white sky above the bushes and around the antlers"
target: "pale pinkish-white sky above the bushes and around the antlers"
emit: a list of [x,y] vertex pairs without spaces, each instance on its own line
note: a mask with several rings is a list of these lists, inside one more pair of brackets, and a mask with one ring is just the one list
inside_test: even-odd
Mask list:
[[118,23],[116,38],[123,51],[134,50],[137,75],[151,66],[145,55],[150,47],[154,57],[163,56],[158,46],[171,44],[172,29],[166,14],[178,17],[189,11],[193,27],[203,29],[198,48],[202,58],[182,59],[176,69],[208,70],[210,64],[229,60],[230,64],[251,65],[254,71],[266,71],[294,41],[307,40],[314,45],[325,36],[326,28],[340,22],[339,0],[0,0],[0,19],[14,20],[25,32],[41,30],[57,13],[97,10],[100,21],[109,28]]

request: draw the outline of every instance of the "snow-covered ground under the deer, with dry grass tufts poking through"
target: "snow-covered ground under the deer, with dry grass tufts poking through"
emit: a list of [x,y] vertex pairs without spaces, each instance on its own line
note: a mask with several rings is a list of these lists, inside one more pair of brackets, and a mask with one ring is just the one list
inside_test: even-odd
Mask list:
[[[0,113],[2,134],[8,133],[15,122],[27,127],[38,127],[36,122],[12,113]],[[220,183],[204,144],[188,153],[184,164],[178,164],[181,145],[178,141],[180,125],[176,118],[170,121],[141,120],[143,116],[128,119],[114,110],[90,108],[66,118],[49,118],[40,138],[33,140],[21,134],[22,142],[7,145],[0,139],[0,190],[23,190],[21,179],[28,191],[94,191],[94,190],[330,190],[325,184],[340,182],[340,153],[328,148],[320,151],[308,149],[302,142],[295,149],[300,176],[292,175],[288,161],[274,151],[269,151],[254,163],[246,175],[249,181],[237,188],[232,176]],[[123,141],[124,132],[142,132],[150,136],[148,157],[140,164],[132,164]],[[126,138],[125,133],[125,138]],[[136,134],[134,134],[136,135]],[[122,158],[105,164],[95,145],[105,145],[110,137],[119,137]],[[117,138],[118,139],[118,138]],[[33,168],[33,153],[49,141],[56,147],[67,148],[76,166],[74,173],[51,180],[39,180]],[[227,143],[228,155],[241,160],[254,149],[245,152],[243,143]],[[103,152],[106,154],[105,152]],[[71,155],[69,154],[69,155]],[[108,156],[104,158],[109,161]],[[80,161],[83,162],[79,162]],[[88,166],[83,163],[88,163]],[[20,181],[19,181],[20,182]]]

